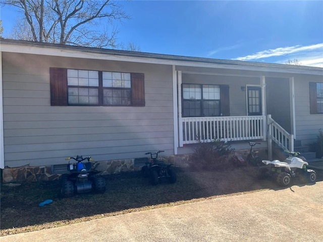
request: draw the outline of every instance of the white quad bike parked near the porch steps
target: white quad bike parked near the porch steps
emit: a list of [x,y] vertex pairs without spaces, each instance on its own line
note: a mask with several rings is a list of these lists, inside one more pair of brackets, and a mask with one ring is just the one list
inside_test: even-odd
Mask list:
[[290,156],[284,161],[279,160],[263,160],[262,163],[266,166],[262,166],[258,169],[257,177],[263,179],[267,176],[274,176],[278,184],[283,187],[287,187],[291,183],[291,177],[302,176],[309,183],[315,183],[316,173],[314,170],[306,169],[308,163],[303,157],[299,156],[299,152],[291,152],[285,150]]

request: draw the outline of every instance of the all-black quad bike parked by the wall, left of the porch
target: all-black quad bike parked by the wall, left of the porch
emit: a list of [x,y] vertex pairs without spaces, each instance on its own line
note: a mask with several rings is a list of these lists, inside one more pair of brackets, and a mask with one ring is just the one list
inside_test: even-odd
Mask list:
[[158,150],[156,153],[147,152],[150,154],[150,161],[141,168],[143,177],[149,177],[152,185],[157,185],[159,178],[167,178],[170,183],[176,183],[176,172],[171,167],[172,164],[166,164],[164,161],[158,160],[158,154],[164,150]]

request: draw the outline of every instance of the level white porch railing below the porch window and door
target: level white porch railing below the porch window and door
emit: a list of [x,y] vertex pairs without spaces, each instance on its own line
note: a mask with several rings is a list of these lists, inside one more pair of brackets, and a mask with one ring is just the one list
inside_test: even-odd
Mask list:
[[[198,141],[265,139],[264,116],[182,117],[180,146]],[[180,127],[180,128],[182,128]]]

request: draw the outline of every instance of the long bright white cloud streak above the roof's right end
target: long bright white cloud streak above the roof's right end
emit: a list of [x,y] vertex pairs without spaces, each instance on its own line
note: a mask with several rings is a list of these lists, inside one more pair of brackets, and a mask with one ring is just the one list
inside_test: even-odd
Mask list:
[[280,47],[276,49],[268,49],[268,50],[259,51],[251,55],[237,57],[234,59],[238,61],[251,61],[255,59],[268,58],[273,56],[285,56],[285,55],[299,53],[299,52],[311,52],[315,50],[317,51],[318,49],[321,49],[320,52],[322,53],[322,56],[323,56],[323,43],[319,43],[319,44],[313,44],[313,45],[307,45],[307,46],[295,45],[295,46],[289,46],[289,47]]

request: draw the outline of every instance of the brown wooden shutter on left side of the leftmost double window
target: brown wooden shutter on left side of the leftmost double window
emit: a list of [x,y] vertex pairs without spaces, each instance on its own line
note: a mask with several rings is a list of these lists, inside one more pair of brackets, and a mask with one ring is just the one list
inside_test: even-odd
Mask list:
[[50,105],[67,106],[67,69],[50,68]]

